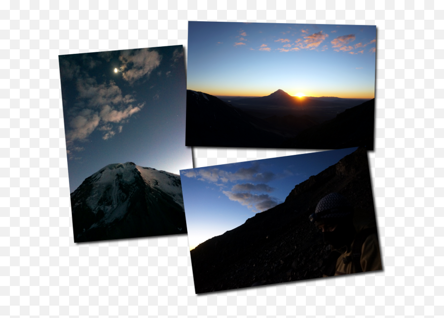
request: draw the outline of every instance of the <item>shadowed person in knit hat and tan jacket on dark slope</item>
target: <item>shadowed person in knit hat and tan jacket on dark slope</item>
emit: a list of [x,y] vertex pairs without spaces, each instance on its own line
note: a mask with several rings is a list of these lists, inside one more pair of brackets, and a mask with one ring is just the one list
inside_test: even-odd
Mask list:
[[353,207],[338,193],[322,198],[310,215],[332,247],[324,261],[324,277],[382,270],[375,221],[357,225],[353,216]]

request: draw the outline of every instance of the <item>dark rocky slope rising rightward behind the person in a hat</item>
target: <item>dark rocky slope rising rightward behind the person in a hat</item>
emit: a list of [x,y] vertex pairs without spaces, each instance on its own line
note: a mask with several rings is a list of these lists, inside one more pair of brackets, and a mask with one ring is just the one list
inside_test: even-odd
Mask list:
[[331,192],[349,200],[356,219],[374,222],[365,148],[296,185],[284,203],[191,250],[196,293],[322,277],[330,251],[308,216]]

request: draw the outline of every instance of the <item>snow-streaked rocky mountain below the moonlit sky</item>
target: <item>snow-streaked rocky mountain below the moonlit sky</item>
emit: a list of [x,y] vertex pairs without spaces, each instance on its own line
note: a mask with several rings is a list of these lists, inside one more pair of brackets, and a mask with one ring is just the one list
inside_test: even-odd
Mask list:
[[86,178],[71,207],[76,243],[187,233],[180,177],[132,162]]

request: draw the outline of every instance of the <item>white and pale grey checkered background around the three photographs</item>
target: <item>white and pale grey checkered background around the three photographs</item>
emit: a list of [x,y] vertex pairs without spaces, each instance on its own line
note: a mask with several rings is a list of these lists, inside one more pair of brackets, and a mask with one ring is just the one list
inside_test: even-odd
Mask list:
[[[2,316],[444,315],[443,1],[18,1],[0,10]],[[75,245],[58,55],[187,44],[187,21],[377,26],[382,272],[196,296],[186,235]],[[194,148],[194,166],[305,151]]]

